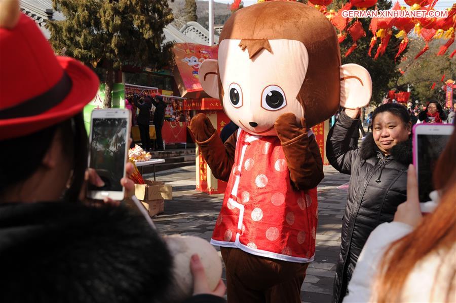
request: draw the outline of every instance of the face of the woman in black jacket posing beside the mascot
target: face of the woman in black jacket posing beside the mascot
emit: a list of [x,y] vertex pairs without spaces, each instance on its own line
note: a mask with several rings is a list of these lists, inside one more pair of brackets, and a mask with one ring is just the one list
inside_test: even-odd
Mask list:
[[411,124],[402,121],[398,116],[383,112],[375,116],[373,125],[373,139],[378,149],[389,155],[393,146],[408,139]]

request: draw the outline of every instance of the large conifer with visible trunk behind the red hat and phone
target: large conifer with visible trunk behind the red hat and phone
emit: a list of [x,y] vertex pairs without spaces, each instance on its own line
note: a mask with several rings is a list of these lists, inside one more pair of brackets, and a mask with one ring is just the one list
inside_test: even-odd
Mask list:
[[53,0],[63,21],[50,21],[57,54],[106,68],[104,107],[111,107],[113,75],[123,65],[161,69],[172,60],[163,28],[173,21],[167,0]]

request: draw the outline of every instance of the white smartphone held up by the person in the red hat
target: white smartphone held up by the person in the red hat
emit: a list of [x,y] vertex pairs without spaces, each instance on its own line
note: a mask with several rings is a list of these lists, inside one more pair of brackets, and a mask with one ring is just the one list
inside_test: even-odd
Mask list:
[[105,197],[122,200],[125,164],[130,138],[130,111],[126,109],[101,109],[92,112],[90,123],[89,167],[94,169],[104,186],[89,184],[87,196],[102,200]]

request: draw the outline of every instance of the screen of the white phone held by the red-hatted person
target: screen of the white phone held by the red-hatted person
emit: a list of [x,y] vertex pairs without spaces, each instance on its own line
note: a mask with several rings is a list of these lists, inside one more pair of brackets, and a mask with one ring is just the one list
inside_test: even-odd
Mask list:
[[120,180],[124,177],[127,123],[125,118],[92,119],[89,166],[105,185],[89,185],[89,190],[122,191]]

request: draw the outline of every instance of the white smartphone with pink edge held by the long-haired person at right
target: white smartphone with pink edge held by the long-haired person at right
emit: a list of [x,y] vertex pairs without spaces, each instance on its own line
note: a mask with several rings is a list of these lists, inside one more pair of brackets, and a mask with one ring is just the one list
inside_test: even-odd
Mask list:
[[413,165],[418,177],[420,202],[429,201],[434,190],[432,173],[453,132],[451,124],[422,123],[413,126]]

